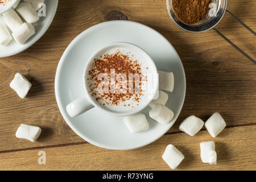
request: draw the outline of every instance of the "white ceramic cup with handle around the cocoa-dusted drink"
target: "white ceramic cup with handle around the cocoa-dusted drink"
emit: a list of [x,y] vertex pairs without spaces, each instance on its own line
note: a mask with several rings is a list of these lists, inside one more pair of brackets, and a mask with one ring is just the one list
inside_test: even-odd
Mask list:
[[[142,48],[135,46],[131,43],[125,43],[125,42],[117,42],[117,43],[111,43],[108,44],[96,51],[87,61],[83,73],[83,81],[84,81],[84,92],[85,96],[81,98],[77,98],[77,100],[71,102],[67,105],[66,110],[70,117],[76,117],[77,115],[80,115],[84,113],[85,111],[88,111],[92,109],[93,107],[97,107],[98,109],[104,111],[105,113],[111,114],[111,115],[117,115],[117,116],[124,116],[124,115],[131,115],[138,113],[142,109],[144,109],[154,97],[147,97],[142,101],[141,104],[139,104],[138,107],[135,107],[134,109],[127,110],[127,111],[113,111],[107,109],[105,106],[100,105],[92,96],[89,94],[88,86],[87,84],[87,77],[86,73],[88,72],[88,68],[90,63],[94,61],[94,59],[98,55],[102,55],[102,52],[106,52],[113,48],[125,48],[126,50],[136,51],[139,53],[140,57],[143,57],[143,60],[141,60],[142,64],[147,65],[148,72],[152,75],[151,82],[150,82],[150,89],[147,89],[146,94],[150,94],[150,96],[156,96],[158,94],[158,72],[155,66],[154,61],[151,59],[151,57],[148,55],[146,51],[144,51]],[[145,98],[145,97],[144,97]]]

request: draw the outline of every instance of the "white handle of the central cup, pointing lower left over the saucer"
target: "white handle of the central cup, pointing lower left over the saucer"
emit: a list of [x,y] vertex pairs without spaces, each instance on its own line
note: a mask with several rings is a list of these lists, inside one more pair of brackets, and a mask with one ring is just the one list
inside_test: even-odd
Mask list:
[[77,115],[84,113],[92,109],[94,106],[86,97],[77,98],[77,100],[69,103],[66,107],[68,115],[73,118]]

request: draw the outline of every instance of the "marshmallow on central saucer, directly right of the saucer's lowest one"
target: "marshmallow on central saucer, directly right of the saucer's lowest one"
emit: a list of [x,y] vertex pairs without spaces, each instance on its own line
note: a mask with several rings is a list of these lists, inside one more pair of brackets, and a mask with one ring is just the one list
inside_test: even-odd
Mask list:
[[152,119],[162,124],[166,124],[174,118],[174,112],[162,104],[158,104],[152,108],[149,111],[149,115]]

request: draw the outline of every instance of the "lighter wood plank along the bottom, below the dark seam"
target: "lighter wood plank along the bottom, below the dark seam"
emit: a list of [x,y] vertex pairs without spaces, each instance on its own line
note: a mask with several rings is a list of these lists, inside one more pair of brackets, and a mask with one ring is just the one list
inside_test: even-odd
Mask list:
[[[79,144],[0,154],[1,170],[171,170],[162,159],[167,144],[185,156],[177,170],[255,170],[256,126],[225,129],[217,138],[206,130],[195,137],[185,133],[165,135],[156,142],[130,151],[110,151]],[[250,138],[250,139],[249,139]],[[217,165],[201,162],[200,142],[214,140]],[[250,146],[250,147],[249,147]],[[38,164],[38,152],[46,152],[46,165]]]

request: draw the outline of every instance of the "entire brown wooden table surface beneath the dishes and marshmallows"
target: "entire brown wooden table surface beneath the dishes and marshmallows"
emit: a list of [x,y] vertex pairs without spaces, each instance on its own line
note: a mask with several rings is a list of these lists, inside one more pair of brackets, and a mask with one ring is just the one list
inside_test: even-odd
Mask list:
[[[256,31],[256,1],[229,0],[234,15]],[[187,94],[175,125],[156,142],[130,151],[93,146],[65,123],[57,107],[54,79],[57,64],[68,44],[97,23],[127,19],[159,31],[179,53],[187,77]],[[225,14],[217,30],[256,60],[256,38]],[[167,144],[185,156],[177,170],[256,169],[256,67],[225,40],[209,30],[192,34],[170,19],[166,0],[59,1],[55,19],[46,34],[18,55],[0,59],[0,169],[1,170],[170,170],[162,159]],[[20,99],[9,84],[16,72],[32,83]],[[227,126],[217,138],[204,128],[190,137],[179,131],[189,115],[204,121],[215,111]],[[15,138],[20,123],[42,128],[32,143]],[[216,142],[217,165],[201,162],[200,142]],[[38,152],[46,152],[46,165]]]

